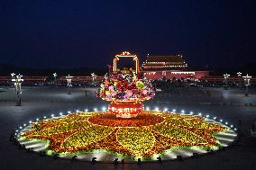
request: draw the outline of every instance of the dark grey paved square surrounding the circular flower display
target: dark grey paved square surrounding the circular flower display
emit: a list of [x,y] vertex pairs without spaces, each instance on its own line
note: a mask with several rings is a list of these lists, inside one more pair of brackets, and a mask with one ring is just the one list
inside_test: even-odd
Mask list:
[[[256,169],[256,139],[251,139],[249,135],[251,124],[256,121],[256,106],[253,106],[256,105],[256,89],[250,89],[250,97],[244,97],[244,90],[239,89],[210,88],[209,94],[206,90],[173,88],[168,94],[158,93],[154,100],[145,105],[151,108],[168,107],[178,111],[183,109],[186,112],[202,112],[233,123],[241,133],[236,145],[213,155],[170,161],[161,165],[114,166],[40,157],[20,150],[9,142],[11,131],[32,119],[50,116],[51,113],[96,107],[100,109],[106,106],[107,103],[96,99],[96,89],[72,88],[72,94],[68,95],[64,87],[25,87],[21,107],[14,106],[14,89],[5,89],[5,92],[0,93],[0,169]],[[251,106],[245,106],[245,103],[251,103]]]

